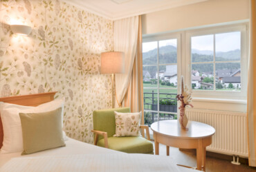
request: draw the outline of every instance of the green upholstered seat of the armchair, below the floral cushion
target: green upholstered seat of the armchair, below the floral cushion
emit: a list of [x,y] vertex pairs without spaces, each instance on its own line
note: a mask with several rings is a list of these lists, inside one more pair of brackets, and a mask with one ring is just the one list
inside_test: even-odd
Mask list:
[[[149,153],[154,154],[153,144],[140,136],[109,137],[109,149],[126,153]],[[98,146],[104,147],[104,139],[98,141]]]

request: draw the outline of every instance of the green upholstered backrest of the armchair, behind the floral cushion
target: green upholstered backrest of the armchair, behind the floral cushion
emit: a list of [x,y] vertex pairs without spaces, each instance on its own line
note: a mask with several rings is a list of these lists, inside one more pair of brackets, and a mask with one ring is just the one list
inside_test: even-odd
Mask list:
[[[107,137],[112,137],[116,133],[116,118],[113,111],[122,113],[130,112],[129,107],[122,107],[116,109],[102,109],[93,111],[93,129],[107,132]],[[102,139],[99,136],[99,140]]]

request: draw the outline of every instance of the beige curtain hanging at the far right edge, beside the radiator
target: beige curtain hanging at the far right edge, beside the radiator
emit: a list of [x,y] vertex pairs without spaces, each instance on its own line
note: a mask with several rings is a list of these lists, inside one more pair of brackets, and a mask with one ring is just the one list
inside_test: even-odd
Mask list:
[[247,131],[249,165],[256,166],[256,0],[250,0],[250,58],[248,66]]

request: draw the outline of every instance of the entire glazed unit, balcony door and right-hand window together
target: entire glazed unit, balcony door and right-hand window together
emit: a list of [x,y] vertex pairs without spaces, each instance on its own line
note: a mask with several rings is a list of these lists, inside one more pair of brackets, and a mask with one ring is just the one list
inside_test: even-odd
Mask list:
[[192,89],[195,107],[246,100],[246,28],[241,23],[143,36],[145,124],[177,118],[181,75]]

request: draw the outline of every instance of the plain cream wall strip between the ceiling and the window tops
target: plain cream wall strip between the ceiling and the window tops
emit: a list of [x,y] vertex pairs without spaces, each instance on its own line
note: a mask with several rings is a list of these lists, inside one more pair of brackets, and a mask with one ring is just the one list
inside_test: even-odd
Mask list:
[[142,16],[143,34],[249,19],[249,0],[209,0]]

